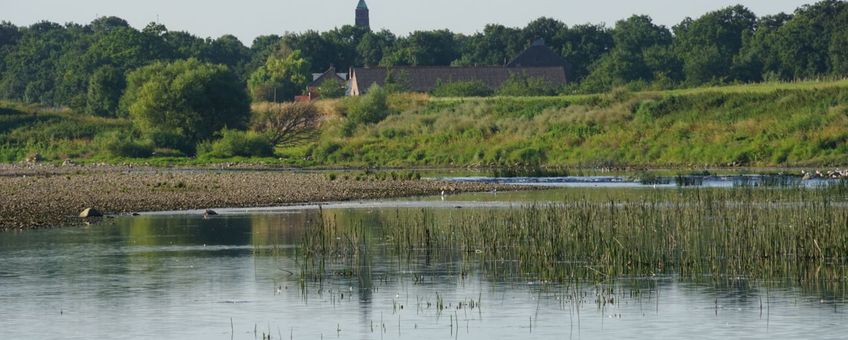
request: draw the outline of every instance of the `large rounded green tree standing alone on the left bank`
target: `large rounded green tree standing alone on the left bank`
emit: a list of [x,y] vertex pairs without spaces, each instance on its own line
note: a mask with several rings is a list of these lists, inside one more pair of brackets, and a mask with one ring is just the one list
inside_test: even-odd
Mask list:
[[143,133],[177,135],[190,143],[224,127],[244,127],[250,116],[250,99],[238,77],[227,66],[197,59],[156,62],[131,72],[121,107]]

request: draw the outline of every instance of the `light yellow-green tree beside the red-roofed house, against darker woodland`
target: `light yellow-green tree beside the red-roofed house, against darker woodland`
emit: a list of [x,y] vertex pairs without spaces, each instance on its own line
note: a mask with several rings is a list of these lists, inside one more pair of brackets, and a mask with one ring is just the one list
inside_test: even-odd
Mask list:
[[282,102],[302,93],[310,79],[309,63],[294,51],[284,58],[269,57],[250,75],[248,87],[255,101]]

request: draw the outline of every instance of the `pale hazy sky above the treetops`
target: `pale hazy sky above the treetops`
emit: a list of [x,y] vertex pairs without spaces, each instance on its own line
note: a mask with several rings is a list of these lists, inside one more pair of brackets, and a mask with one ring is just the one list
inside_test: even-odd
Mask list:
[[[366,0],[371,27],[405,35],[447,28],[458,33],[481,31],[486,24],[523,27],[538,17],[569,26],[606,23],[633,14],[650,15],[671,27],[685,17],[742,4],[758,16],[793,12],[799,0]],[[265,34],[325,31],[353,24],[358,0],[0,0],[0,20],[28,26],[41,20],[87,24],[99,16],[118,16],[143,28],[159,21],[172,31],[200,37],[237,36],[250,46]]]

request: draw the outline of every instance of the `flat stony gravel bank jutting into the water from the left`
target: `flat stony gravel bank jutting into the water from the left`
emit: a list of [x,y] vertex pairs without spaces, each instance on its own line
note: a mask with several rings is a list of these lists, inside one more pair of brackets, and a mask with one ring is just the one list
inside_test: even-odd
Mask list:
[[0,230],[82,223],[85,208],[106,214],[263,207],[447,193],[509,190],[340,173],[213,171],[112,166],[0,166]]

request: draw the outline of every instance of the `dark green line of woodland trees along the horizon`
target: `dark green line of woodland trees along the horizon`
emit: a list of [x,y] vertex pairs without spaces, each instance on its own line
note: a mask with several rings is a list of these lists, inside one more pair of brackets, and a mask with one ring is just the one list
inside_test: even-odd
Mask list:
[[[492,24],[468,35],[433,30],[398,36],[343,26],[264,35],[249,47],[232,35],[204,39],[157,23],[137,30],[121,18],[102,17],[87,25],[0,24],[0,99],[128,115],[129,104],[121,102],[133,71],[190,60],[181,67],[223,66],[211,69],[229,72],[221,79],[238,82],[254,101],[284,101],[303,90],[310,73],[331,65],[340,72],[351,66],[503,65],[539,38],[570,64],[564,92],[848,75],[848,2],[838,0],[764,17],[737,5],[671,28],[646,15],[612,27],[543,17],[523,28]],[[144,77],[135,78],[142,83]]]

